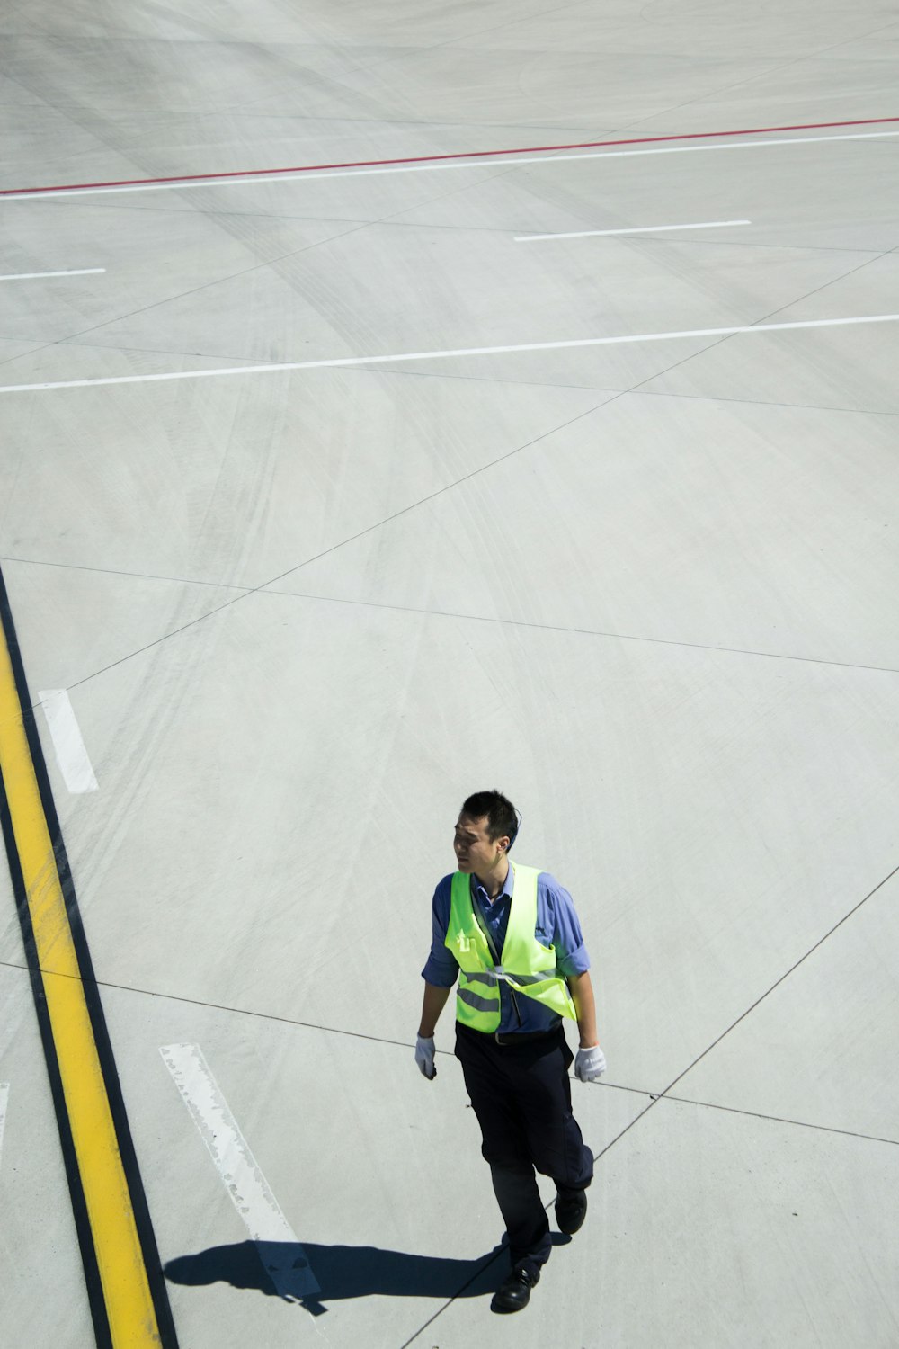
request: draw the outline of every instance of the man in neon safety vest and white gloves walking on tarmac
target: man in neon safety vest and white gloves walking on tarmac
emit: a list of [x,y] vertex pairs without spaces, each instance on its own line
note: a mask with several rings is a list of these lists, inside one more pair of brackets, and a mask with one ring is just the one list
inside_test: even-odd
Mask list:
[[597,1082],[605,1071],[590,962],[571,897],[547,871],[509,862],[518,826],[515,807],[500,792],[476,792],[462,805],[453,843],[458,870],[434,892],[415,1047],[421,1071],[433,1081],[434,1029],[458,979],[456,1056],[481,1126],[512,1261],[493,1311],[526,1307],[550,1257],[534,1168],[555,1182],[561,1232],[577,1232],[586,1215],[593,1153],[571,1114],[573,1055],[563,1017],[577,1020],[580,1031],[576,1075]]

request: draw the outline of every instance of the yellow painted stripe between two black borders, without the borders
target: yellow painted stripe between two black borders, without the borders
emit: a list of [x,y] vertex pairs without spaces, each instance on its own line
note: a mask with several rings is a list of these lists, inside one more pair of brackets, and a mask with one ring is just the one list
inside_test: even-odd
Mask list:
[[50,831],[0,638],[0,770],[115,1349],[162,1344]]

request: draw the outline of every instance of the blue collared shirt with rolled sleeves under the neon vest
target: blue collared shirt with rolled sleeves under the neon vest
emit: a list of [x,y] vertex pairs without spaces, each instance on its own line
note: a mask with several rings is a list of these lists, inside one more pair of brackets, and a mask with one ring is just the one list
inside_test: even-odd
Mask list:
[[[505,942],[505,929],[508,928],[512,882],[512,867],[509,865],[508,876],[500,894],[491,901],[489,894],[477,877],[472,876],[470,878],[472,902],[480,909],[484,924],[491,934],[491,940],[500,954]],[[458,962],[449,947],[445,946],[452,894],[453,877],[445,876],[434,890],[431,954],[422,970],[422,978],[439,989],[452,989],[458,978]],[[555,969],[562,978],[573,974],[584,974],[585,970],[589,970],[590,958],[584,946],[581,924],[578,923],[571,896],[549,871],[540,871],[536,878],[535,936],[543,946],[551,946],[555,950]],[[528,998],[524,993],[516,993],[515,998],[512,998],[508,985],[500,979],[499,1029],[503,1033],[514,1033],[515,1031],[551,1031],[559,1021],[561,1017],[555,1012],[543,1006],[542,1002]]]

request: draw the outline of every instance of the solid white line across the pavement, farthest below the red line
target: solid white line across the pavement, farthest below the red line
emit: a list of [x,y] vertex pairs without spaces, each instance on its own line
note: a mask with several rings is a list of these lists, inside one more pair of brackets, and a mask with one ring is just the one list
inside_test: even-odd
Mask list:
[[576,337],[573,341],[528,341],[512,347],[458,347],[454,351],[402,351],[392,356],[338,356],[333,360],[292,360],[274,366],[228,366],[217,370],[174,370],[160,375],[108,375],[101,379],[55,379],[39,384],[0,384],[0,394],[46,389],[88,389],[98,384],[150,384],[162,379],[214,379],[220,375],[266,375],[290,370],[329,370],[338,366],[381,366],[396,360],[447,360],[452,356],[499,356],[519,351],[562,351],[576,347],[617,347],[633,341],[675,341],[678,337],[729,337],[733,333],[776,333],[801,328],[846,328],[852,324],[895,324],[899,314],[861,314],[852,318],[806,318],[794,324],[748,324],[733,328],[690,328],[674,333],[631,333],[624,337]]

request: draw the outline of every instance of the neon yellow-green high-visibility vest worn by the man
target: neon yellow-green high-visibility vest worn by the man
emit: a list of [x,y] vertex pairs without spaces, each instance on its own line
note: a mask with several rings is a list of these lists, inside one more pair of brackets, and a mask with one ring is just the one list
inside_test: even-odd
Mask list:
[[491,948],[472,907],[470,878],[462,871],[453,877],[450,919],[445,944],[460,966],[456,1020],[473,1031],[491,1033],[500,1024],[500,979],[511,989],[543,1006],[576,1020],[571,994],[555,973],[555,951],[536,940],[538,867],[512,867],[512,900],[500,963]]

